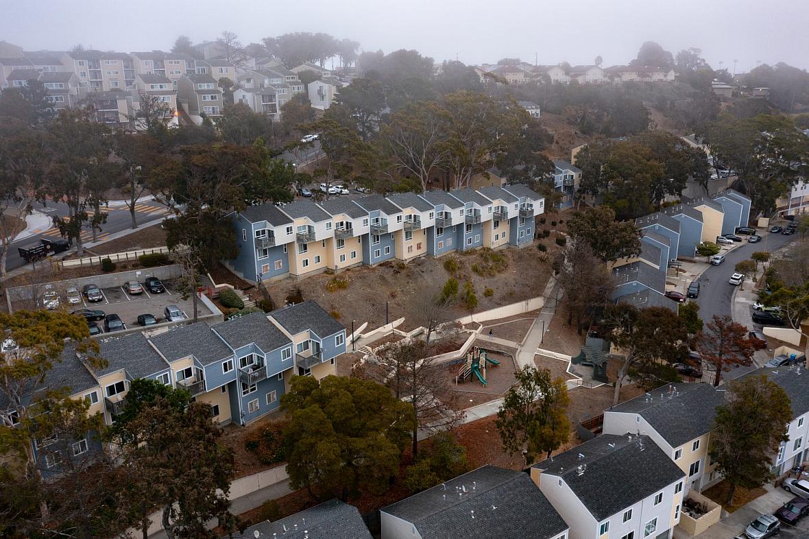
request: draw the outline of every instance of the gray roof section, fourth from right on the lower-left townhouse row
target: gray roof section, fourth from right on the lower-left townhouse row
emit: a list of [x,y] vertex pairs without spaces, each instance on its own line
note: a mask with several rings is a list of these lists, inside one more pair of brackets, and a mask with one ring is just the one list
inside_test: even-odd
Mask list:
[[108,362],[107,367],[95,370],[96,376],[126,370],[130,379],[146,378],[168,369],[160,354],[155,352],[143,333],[131,333],[125,337],[108,338],[99,343],[99,355]]

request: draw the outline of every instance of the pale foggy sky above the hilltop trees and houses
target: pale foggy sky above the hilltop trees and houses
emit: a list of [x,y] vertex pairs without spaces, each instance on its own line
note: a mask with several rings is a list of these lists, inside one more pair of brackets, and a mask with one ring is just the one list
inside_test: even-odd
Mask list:
[[0,0],[0,40],[26,50],[78,43],[133,52],[171,49],[222,30],[244,45],[287,32],[326,32],[363,50],[417,49],[437,62],[520,57],[604,66],[629,62],[643,41],[698,47],[718,69],[756,62],[809,68],[806,0]]

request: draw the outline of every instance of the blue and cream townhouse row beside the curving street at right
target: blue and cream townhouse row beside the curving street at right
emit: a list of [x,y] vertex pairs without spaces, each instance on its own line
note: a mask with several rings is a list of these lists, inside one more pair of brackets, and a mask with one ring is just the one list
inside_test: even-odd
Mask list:
[[612,299],[638,308],[674,308],[666,291],[671,262],[697,257],[702,242],[716,243],[718,236],[748,226],[750,198],[733,189],[670,206],[635,219],[641,231],[641,253],[612,265],[616,289]]

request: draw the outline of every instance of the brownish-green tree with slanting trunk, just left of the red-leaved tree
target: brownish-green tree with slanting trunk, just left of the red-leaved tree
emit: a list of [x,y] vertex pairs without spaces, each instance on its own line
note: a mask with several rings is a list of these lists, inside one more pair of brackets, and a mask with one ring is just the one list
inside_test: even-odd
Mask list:
[[676,363],[688,352],[688,333],[669,308],[618,303],[604,311],[604,328],[613,346],[621,349],[624,360],[618,369],[612,404],[618,404],[621,384],[630,369],[654,369],[657,364]]

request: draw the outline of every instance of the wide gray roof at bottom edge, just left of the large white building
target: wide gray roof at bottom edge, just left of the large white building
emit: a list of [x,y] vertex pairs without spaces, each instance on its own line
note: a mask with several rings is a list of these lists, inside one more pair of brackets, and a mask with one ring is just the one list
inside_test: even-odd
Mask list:
[[422,539],[555,539],[568,529],[527,473],[492,465],[380,511],[412,523]]

